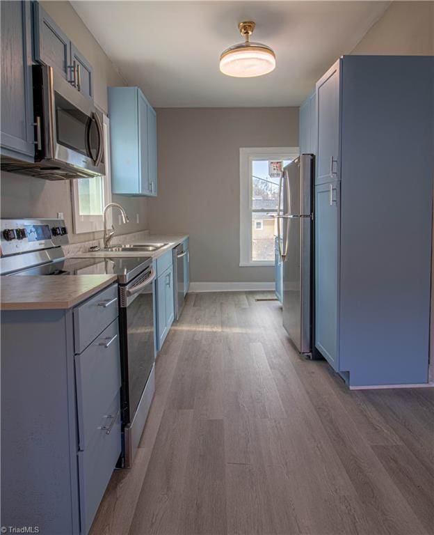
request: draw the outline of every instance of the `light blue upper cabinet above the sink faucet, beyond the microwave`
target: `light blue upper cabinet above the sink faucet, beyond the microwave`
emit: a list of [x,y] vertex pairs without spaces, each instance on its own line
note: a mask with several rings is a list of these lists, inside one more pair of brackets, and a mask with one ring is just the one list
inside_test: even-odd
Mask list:
[[156,195],[156,114],[138,87],[109,87],[115,194]]

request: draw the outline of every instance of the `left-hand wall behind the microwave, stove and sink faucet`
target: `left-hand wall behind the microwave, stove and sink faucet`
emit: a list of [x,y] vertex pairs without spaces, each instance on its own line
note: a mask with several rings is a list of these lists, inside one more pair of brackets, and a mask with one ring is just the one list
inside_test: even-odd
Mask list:
[[[113,63],[98,45],[69,2],[44,1],[42,8],[61,26],[93,65],[95,73],[95,104],[107,111],[107,86],[124,86]],[[63,212],[66,224],[72,232],[72,210],[69,181],[41,180],[19,176],[15,173],[1,173],[1,217],[57,217]],[[131,222],[122,225],[122,233],[136,232],[147,228],[147,200],[145,197],[125,197],[113,195],[127,210]],[[136,214],[139,224],[136,224]],[[113,218],[116,226],[117,217]],[[71,242],[81,242],[100,238],[102,232],[70,235]]]

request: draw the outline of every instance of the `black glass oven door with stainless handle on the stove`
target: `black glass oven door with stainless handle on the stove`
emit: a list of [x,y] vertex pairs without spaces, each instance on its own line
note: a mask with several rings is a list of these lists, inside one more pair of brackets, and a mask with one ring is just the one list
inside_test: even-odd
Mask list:
[[133,421],[155,361],[152,266],[120,286],[122,424]]

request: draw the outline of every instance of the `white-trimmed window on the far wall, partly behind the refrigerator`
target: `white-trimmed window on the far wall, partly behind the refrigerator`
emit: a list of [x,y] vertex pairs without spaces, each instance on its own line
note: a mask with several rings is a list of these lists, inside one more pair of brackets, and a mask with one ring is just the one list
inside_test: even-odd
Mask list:
[[240,265],[274,265],[282,169],[298,147],[240,148]]

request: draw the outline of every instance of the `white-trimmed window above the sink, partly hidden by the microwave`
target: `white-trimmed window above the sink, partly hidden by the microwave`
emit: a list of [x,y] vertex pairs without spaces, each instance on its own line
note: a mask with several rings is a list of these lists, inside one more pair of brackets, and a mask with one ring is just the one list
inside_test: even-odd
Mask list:
[[[71,180],[74,233],[104,230],[104,206],[111,202],[110,121],[103,115],[105,176]],[[111,225],[111,213],[108,218]]]

